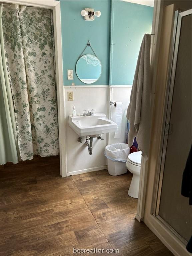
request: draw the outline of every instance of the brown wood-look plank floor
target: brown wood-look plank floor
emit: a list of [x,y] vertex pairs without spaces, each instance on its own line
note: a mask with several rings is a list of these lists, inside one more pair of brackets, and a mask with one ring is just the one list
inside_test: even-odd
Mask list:
[[[58,157],[1,166],[0,255],[172,255],[134,219],[130,181],[130,173],[113,177],[105,170],[61,178]],[[73,254],[73,248],[120,253]]]

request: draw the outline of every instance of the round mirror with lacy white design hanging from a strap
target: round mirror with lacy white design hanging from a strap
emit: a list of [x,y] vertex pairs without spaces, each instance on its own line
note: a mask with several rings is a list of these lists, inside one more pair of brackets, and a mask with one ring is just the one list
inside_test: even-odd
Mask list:
[[91,54],[81,56],[76,64],[76,74],[85,84],[96,82],[101,75],[101,62]]

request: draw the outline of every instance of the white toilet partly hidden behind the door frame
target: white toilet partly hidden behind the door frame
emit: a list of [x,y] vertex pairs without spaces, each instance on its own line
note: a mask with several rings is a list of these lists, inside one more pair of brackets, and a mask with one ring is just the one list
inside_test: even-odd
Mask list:
[[133,174],[128,195],[134,198],[138,198],[138,194],[139,194],[141,154],[142,154],[141,151],[129,154],[126,162],[127,169]]

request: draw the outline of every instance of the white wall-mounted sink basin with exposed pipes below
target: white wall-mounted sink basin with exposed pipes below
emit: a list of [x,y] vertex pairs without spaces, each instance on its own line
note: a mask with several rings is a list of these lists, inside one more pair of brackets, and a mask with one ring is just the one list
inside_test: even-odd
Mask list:
[[68,124],[79,136],[97,137],[117,130],[117,124],[103,113],[95,113],[94,116],[69,116]]

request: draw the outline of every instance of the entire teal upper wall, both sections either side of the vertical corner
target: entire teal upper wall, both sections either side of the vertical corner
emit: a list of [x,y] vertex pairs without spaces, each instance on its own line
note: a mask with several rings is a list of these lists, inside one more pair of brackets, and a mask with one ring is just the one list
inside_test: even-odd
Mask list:
[[[75,66],[88,40],[102,65],[101,76],[93,85],[108,85],[109,74],[112,85],[132,84],[143,35],[151,33],[153,8],[119,0],[113,2],[111,16],[110,0],[60,1],[64,85],[86,85],[78,79]],[[101,17],[84,21],[80,12],[85,8],[101,11]],[[114,17],[112,29],[111,17]],[[110,41],[110,30],[113,41]],[[110,60],[112,43],[115,45]],[[87,48],[84,54],[92,54],[90,47]],[[74,80],[67,80],[67,69],[73,69]]]

